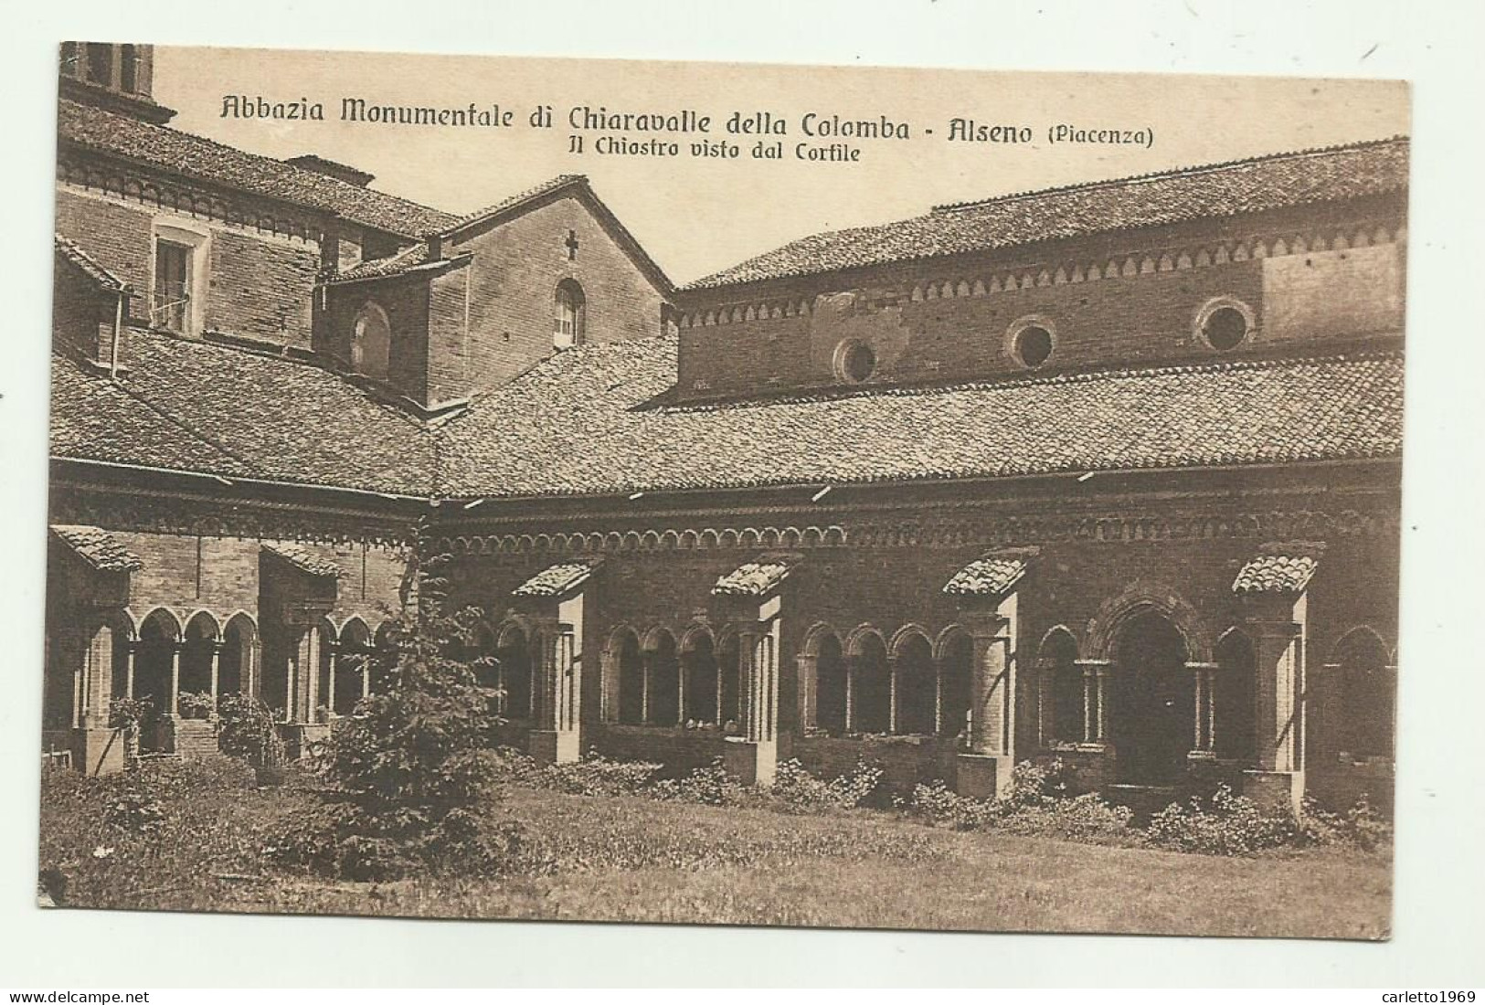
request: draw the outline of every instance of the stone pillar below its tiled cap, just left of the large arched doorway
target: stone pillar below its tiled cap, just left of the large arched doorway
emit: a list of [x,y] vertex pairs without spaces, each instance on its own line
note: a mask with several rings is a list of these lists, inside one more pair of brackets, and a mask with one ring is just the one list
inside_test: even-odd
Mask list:
[[[980,598],[973,598],[980,600]],[[970,753],[959,754],[955,788],[961,796],[995,799],[1016,766],[1014,595],[996,606],[961,607],[974,665],[970,677]]]

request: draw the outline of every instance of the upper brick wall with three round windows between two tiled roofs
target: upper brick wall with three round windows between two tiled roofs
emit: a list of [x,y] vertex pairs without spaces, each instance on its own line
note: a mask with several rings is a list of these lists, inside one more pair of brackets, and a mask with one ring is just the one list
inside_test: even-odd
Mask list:
[[[1023,319],[1054,335],[1041,370],[1209,361],[1295,341],[1396,335],[1400,223],[1400,206],[1366,203],[1132,233],[1118,245],[1065,242],[689,292],[682,295],[689,324],[680,333],[679,392],[839,384],[835,362],[846,340],[872,347],[873,382],[1025,374],[1011,338]],[[1310,249],[1305,239],[1328,243]],[[1332,249],[1334,242],[1341,246]],[[1227,353],[1195,335],[1197,315],[1215,297],[1234,297],[1253,312],[1252,334]]]

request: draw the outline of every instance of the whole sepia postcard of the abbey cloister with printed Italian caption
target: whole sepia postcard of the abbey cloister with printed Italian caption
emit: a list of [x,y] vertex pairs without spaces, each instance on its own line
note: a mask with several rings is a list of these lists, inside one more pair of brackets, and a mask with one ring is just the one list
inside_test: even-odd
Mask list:
[[43,907],[1390,938],[1406,82],[56,67]]

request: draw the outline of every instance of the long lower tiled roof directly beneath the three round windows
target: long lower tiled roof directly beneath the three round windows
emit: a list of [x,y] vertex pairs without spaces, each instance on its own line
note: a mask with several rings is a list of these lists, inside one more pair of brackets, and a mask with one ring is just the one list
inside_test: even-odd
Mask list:
[[441,428],[448,496],[1393,457],[1402,352],[658,408],[676,338],[557,353]]

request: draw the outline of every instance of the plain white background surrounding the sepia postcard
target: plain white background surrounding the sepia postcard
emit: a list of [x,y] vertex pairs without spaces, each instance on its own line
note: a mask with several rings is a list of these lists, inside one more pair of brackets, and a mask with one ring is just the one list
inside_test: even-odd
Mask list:
[[[6,4],[0,334],[0,987],[315,984],[1485,984],[1481,767],[1482,4]],[[1394,938],[936,935],[40,911],[34,907],[55,46],[64,39],[512,55],[1403,77],[1414,91]],[[1210,123],[1221,129],[1221,122]],[[993,882],[993,877],[986,877]],[[1372,999],[1374,1001],[1374,999]]]

